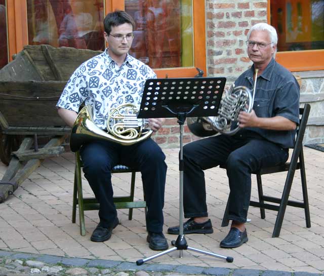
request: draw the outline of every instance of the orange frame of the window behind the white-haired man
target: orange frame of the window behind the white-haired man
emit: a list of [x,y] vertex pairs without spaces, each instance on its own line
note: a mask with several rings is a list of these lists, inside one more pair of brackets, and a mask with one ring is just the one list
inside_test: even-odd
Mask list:
[[[267,21],[270,21],[270,2],[267,6]],[[324,70],[324,49],[305,51],[283,51],[277,52],[275,59],[292,72]],[[305,62],[307,60],[307,62]]]

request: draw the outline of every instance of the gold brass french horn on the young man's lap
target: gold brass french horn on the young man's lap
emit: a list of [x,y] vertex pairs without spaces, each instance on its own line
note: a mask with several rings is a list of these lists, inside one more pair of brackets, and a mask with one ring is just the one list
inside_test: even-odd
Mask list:
[[137,107],[123,104],[111,108],[107,118],[107,132],[98,128],[93,120],[93,108],[84,106],[78,113],[71,129],[70,149],[75,152],[95,139],[133,145],[149,138],[152,130],[145,128],[146,120],[137,119]]

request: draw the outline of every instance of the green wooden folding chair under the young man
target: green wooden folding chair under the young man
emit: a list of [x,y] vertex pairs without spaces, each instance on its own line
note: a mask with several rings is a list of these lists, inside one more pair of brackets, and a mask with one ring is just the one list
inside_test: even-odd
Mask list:
[[[75,152],[72,223],[75,223],[76,205],[78,205],[80,234],[84,236],[86,235],[84,211],[99,210],[99,203],[95,198],[83,197],[82,174],[81,174],[82,166],[83,164],[82,164],[82,160],[80,159],[80,153],[79,151],[77,151]],[[123,196],[114,196],[113,198],[113,202],[115,204],[116,209],[129,209],[129,213],[128,213],[129,220],[131,220],[133,217],[133,208],[145,208],[145,214],[146,214],[145,194],[144,194],[144,201],[134,201],[136,172],[139,171],[123,165],[117,165],[111,171],[111,173],[132,173],[130,194],[123,195]]]

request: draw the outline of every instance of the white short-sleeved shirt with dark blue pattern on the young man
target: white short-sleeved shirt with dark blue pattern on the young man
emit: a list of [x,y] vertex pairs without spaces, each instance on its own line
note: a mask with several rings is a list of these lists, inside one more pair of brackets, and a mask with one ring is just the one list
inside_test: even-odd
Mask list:
[[131,103],[139,110],[145,81],[149,78],[156,78],[149,66],[127,54],[118,67],[106,49],[74,71],[56,106],[78,112],[82,103],[92,105],[94,122],[106,129],[110,108]]

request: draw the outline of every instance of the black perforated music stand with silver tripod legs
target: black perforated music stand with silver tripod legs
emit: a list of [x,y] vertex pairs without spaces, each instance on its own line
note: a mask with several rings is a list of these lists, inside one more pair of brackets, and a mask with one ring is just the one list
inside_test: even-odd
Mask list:
[[139,119],[178,118],[180,126],[180,194],[179,194],[179,235],[172,241],[173,248],[136,261],[137,265],[159,256],[180,250],[191,250],[233,262],[232,257],[218,255],[189,247],[183,234],[183,125],[186,117],[216,116],[226,83],[225,77],[199,78],[155,78],[145,82]]

